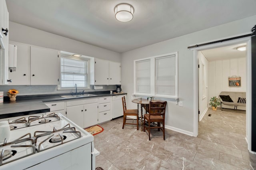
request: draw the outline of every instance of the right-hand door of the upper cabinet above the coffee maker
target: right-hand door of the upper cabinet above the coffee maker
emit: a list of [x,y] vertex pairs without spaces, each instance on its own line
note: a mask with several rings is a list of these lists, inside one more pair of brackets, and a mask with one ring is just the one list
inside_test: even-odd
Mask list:
[[109,61],[109,85],[121,84],[121,64]]

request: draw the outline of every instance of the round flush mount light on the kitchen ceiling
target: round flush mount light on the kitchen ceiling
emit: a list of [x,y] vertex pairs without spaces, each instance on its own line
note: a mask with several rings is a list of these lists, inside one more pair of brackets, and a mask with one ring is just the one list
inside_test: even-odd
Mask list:
[[133,18],[134,8],[130,4],[118,4],[114,8],[115,17],[120,22],[129,22]]

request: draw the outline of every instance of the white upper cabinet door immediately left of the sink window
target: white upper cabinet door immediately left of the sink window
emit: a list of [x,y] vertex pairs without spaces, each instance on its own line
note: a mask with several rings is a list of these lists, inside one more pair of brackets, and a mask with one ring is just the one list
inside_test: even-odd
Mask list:
[[42,47],[30,47],[31,85],[58,85],[60,59],[58,51]]

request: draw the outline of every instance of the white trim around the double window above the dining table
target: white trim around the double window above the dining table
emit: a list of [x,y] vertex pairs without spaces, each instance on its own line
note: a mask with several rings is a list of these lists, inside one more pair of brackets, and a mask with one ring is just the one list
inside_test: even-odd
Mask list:
[[[164,56],[168,56],[168,55],[175,55],[175,96],[173,95],[156,95],[155,94],[155,58],[158,57],[164,57]],[[136,93],[136,62],[137,61],[142,61],[142,60],[146,60],[146,59],[150,59],[150,65],[151,68],[154,69],[150,69],[150,93]],[[162,54],[162,55],[156,55],[156,56],[152,56],[152,57],[147,57],[147,58],[142,58],[142,59],[136,59],[134,60],[134,93],[133,95],[136,96],[150,96],[150,97],[159,97],[159,98],[169,98],[169,99],[178,99],[178,51],[174,52],[174,53],[166,53],[166,54]]]

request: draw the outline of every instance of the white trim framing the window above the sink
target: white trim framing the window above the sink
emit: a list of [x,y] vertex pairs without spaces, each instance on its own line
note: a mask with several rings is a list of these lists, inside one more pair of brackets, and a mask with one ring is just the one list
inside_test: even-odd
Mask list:
[[[66,57],[66,58],[71,58],[71,59],[77,59],[77,60],[82,60],[82,61],[87,61],[87,87],[77,87],[77,89],[84,89],[84,90],[88,90],[90,89],[90,58],[85,58],[82,57],[81,58],[77,58],[77,57],[73,57],[71,55],[66,55],[66,54],[60,54],[60,57]],[[60,62],[60,69],[61,69],[61,62]],[[61,87],[61,70],[60,70],[60,84],[57,85],[57,90],[61,91],[61,90],[74,90],[75,87]]]

